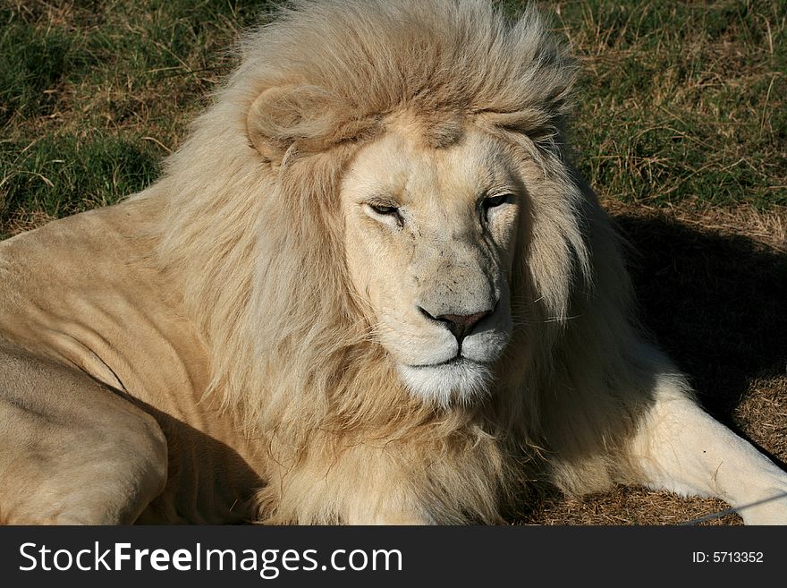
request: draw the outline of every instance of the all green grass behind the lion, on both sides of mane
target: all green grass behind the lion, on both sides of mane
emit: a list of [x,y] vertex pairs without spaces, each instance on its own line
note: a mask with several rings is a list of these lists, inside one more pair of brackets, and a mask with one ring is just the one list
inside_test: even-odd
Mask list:
[[[265,4],[0,4],[0,237],[152,182]],[[602,196],[787,205],[787,4],[542,4],[584,67],[574,143]]]

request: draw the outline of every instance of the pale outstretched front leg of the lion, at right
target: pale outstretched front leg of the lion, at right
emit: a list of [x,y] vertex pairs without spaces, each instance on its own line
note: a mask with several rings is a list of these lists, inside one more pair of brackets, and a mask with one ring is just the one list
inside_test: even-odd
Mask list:
[[638,481],[650,488],[722,499],[746,524],[787,524],[787,473],[680,385],[658,390],[631,447]]

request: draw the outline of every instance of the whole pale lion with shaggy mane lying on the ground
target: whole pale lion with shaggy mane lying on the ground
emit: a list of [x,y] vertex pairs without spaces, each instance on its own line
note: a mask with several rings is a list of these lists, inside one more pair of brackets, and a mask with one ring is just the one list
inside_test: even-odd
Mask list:
[[0,243],[0,520],[787,490],[631,320],[563,145],[573,72],[535,13],[472,0],[304,2],[250,36],[159,182]]

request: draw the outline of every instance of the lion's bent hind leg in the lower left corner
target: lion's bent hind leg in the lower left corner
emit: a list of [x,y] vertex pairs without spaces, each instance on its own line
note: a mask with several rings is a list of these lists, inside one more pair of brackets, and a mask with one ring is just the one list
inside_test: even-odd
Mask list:
[[166,467],[148,414],[78,371],[0,348],[0,522],[130,524]]

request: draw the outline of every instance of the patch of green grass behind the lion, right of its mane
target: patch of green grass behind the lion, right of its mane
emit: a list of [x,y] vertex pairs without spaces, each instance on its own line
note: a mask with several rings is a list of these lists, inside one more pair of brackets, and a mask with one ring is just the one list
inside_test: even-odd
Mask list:
[[787,204],[787,4],[556,4],[584,65],[575,142],[603,195]]

